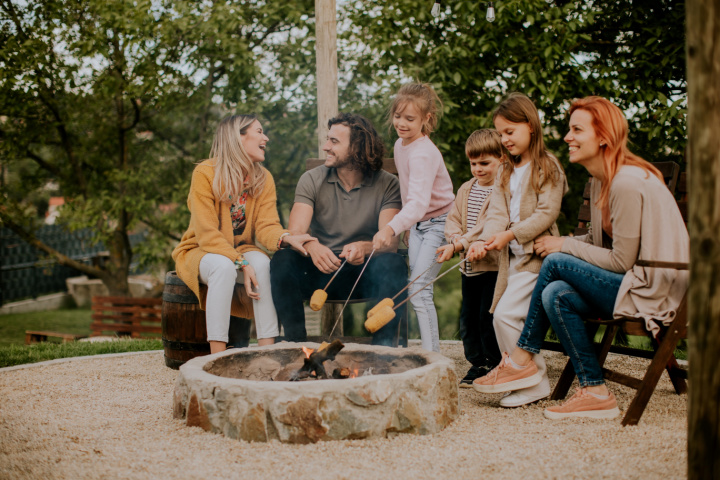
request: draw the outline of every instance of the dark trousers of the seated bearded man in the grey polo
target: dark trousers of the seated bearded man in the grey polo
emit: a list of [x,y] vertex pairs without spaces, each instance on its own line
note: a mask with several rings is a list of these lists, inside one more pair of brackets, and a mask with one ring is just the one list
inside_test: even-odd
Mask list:
[[[363,265],[346,264],[327,289],[328,298],[347,299],[362,268]],[[310,257],[303,257],[294,250],[280,250],[273,255],[270,261],[270,284],[275,310],[285,331],[285,340],[307,340],[303,302],[309,300],[315,290],[325,288],[332,275],[322,273]],[[407,275],[407,264],[401,255],[375,253],[355,287],[352,298],[392,298],[407,285]],[[407,292],[403,292],[395,299],[395,304],[406,296]],[[395,318],[375,332],[372,339],[374,345],[392,345],[398,322],[405,315],[405,308],[406,305],[403,305],[395,310]]]

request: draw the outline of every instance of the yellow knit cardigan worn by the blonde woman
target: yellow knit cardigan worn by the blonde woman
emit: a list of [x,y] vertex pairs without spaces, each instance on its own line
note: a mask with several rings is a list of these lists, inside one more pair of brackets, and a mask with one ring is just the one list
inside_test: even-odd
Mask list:
[[[178,277],[195,293],[203,310],[207,287],[200,284],[199,273],[200,260],[206,253],[224,255],[235,261],[245,252],[261,252],[256,242],[274,252],[280,236],[287,232],[278,217],[275,181],[270,172],[260,167],[265,172],[265,186],[257,197],[247,197],[245,230],[242,235],[233,236],[230,204],[221,202],[212,191],[213,165],[213,159],[205,160],[193,171],[188,195],[190,226],[172,253]],[[245,293],[245,287],[237,285],[235,293],[231,314],[253,318],[252,301]]]

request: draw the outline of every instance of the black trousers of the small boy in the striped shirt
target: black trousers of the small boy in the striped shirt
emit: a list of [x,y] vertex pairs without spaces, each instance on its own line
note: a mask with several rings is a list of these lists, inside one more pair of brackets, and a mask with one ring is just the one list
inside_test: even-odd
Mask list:
[[462,275],[460,338],[465,358],[475,367],[495,367],[502,358],[490,313],[497,272],[466,277]]

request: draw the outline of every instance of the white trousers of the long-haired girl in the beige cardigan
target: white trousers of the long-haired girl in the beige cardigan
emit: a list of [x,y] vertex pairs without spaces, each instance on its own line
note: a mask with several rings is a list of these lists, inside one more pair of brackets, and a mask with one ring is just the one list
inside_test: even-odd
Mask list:
[[[501,352],[507,353],[511,353],[515,349],[517,341],[520,339],[538,277],[537,273],[518,272],[515,269],[517,263],[518,257],[510,253],[508,286],[493,313],[493,327],[495,327],[498,346]],[[535,354],[533,360],[543,379],[538,385],[523,388],[518,392],[532,396],[550,395],[550,381],[547,377],[545,359],[542,354]]]

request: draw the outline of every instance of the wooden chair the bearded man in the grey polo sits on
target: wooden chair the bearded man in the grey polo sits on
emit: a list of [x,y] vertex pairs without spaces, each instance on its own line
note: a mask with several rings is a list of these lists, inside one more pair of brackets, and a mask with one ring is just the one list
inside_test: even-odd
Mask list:
[[[323,165],[325,163],[325,160],[321,158],[309,158],[305,161],[305,170],[312,170],[315,167],[319,167],[320,165]],[[388,173],[392,173],[393,175],[397,175],[397,167],[395,166],[395,160],[392,158],[386,158],[383,160],[383,170],[385,170]],[[401,255],[407,256],[407,250],[404,249],[398,249],[398,253]],[[355,303],[367,303],[373,300],[382,300],[382,299],[372,299],[372,298],[362,298],[362,299],[352,299],[348,302],[348,305],[355,304]],[[330,335],[330,331],[332,330],[335,321],[337,320],[337,316],[340,313],[340,308],[345,303],[345,299],[327,299],[325,301],[325,306],[323,306],[322,309],[322,320],[321,320],[321,335],[319,337],[308,337],[308,340],[311,341],[323,341],[326,340],[327,337]],[[339,330],[338,330],[339,329]],[[353,343],[370,343],[371,337],[343,337],[342,336],[342,320],[339,321],[339,324],[337,328],[335,329],[336,332],[339,332],[340,339],[346,342],[353,342]],[[408,340],[408,309],[405,309],[405,315],[400,317],[400,321],[398,322],[398,332],[395,335],[395,341],[393,342],[395,346],[403,346],[407,347],[407,340]]]

